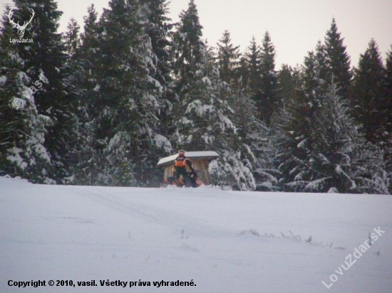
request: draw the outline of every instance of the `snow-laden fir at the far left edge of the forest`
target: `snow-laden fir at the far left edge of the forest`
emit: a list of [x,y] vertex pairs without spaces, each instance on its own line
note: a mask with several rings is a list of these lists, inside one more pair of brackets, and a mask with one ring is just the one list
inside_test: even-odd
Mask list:
[[[9,11],[4,11],[0,30],[0,173],[36,183],[54,183],[51,155],[45,146],[47,129],[53,122],[38,113],[34,97],[29,95],[36,80],[26,73],[29,68],[19,53],[31,47],[29,43],[9,41],[17,38],[16,29],[9,23]],[[31,16],[31,11],[18,9],[11,14],[21,19]],[[31,38],[31,30],[26,28],[24,35]]]

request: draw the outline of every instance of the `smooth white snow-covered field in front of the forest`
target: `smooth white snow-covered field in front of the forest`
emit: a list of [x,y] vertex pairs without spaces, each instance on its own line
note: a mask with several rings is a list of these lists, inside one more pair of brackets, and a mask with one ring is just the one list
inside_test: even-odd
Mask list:
[[392,196],[0,177],[0,292],[392,292]]

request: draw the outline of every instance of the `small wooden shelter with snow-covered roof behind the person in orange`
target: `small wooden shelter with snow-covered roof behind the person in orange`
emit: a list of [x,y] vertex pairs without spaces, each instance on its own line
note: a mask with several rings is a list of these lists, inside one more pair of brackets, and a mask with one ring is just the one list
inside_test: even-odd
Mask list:
[[[174,175],[174,161],[178,154],[167,156],[158,161],[158,167],[163,168],[163,180]],[[211,184],[210,173],[208,172],[208,165],[213,159],[219,158],[219,154],[215,151],[186,151],[185,156],[192,161],[192,167],[197,172],[199,179],[205,183],[205,185]],[[187,169],[189,172],[190,170]]]

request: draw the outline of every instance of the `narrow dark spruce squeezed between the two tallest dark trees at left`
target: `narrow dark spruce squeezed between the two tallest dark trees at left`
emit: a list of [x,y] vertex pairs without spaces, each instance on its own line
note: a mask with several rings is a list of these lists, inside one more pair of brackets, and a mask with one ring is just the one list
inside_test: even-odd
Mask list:
[[[72,161],[70,180],[78,185],[95,185],[101,183],[100,176],[105,159],[103,147],[96,137],[99,132],[98,113],[102,111],[96,102],[98,90],[98,50],[100,28],[98,28],[98,13],[94,5],[88,7],[87,16],[83,17],[84,27],[76,46],[74,55],[67,58],[68,75],[66,84],[68,92],[75,99],[76,119],[74,124],[76,139],[73,140],[73,151],[68,157]],[[69,35],[78,26],[69,28]]]

